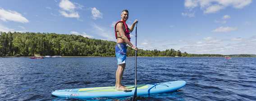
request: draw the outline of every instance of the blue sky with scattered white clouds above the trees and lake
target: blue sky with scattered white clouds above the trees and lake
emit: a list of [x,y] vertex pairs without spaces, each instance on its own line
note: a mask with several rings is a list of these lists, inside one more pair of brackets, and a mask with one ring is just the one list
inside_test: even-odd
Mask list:
[[[253,0],[0,0],[0,31],[48,32],[116,41],[129,10],[137,47],[196,54],[256,54]],[[135,44],[135,30],[131,33]]]

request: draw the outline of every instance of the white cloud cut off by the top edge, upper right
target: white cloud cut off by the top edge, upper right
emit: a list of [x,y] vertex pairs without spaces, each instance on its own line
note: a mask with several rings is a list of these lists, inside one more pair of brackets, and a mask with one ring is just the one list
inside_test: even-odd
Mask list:
[[204,13],[216,13],[226,7],[242,9],[251,2],[252,0],[185,0],[184,6],[190,10],[200,6]]

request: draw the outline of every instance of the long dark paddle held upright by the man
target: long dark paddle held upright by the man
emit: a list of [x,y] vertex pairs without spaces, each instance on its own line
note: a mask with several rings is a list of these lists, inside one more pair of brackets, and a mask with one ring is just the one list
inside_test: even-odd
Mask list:
[[[135,30],[135,46],[137,47],[137,22]],[[137,50],[135,50],[135,91],[133,94],[133,101],[137,101]]]

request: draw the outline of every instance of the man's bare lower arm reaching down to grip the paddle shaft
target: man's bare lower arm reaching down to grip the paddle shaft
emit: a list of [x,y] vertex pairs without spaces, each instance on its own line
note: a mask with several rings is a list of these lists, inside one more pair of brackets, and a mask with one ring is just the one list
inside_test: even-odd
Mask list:
[[128,44],[131,48],[137,50],[136,46],[133,46],[133,44],[128,40],[128,38],[125,36],[125,33],[123,31],[123,23],[118,23],[116,26],[117,31],[119,32],[119,34],[121,35],[121,38],[124,40],[124,42],[126,44]]

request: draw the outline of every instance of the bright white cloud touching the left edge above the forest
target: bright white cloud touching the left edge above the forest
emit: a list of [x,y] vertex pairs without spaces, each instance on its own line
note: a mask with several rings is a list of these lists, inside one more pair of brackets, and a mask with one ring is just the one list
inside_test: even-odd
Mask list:
[[2,21],[13,21],[13,22],[21,22],[27,23],[27,18],[23,17],[20,13],[11,10],[5,10],[0,8],[0,19]]

